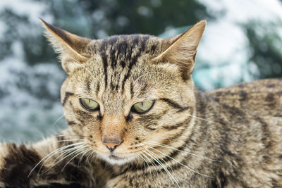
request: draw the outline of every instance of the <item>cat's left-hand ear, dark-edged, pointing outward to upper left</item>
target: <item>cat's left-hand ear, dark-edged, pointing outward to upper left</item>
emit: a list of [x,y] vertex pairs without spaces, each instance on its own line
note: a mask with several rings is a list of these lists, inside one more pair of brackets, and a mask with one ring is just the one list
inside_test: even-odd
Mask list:
[[73,70],[80,67],[80,64],[89,58],[85,53],[85,49],[90,44],[91,39],[73,35],[42,19],[40,21],[46,28],[45,35],[47,39],[53,46],[54,51],[59,54],[59,60],[62,63],[63,70],[71,74]]

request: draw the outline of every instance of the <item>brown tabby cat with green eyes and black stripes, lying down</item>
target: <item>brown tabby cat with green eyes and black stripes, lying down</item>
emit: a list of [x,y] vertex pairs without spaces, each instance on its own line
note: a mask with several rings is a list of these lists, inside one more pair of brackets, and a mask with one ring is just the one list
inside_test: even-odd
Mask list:
[[169,39],[87,39],[41,20],[68,129],[0,145],[0,187],[282,187],[282,80],[199,92],[202,20]]

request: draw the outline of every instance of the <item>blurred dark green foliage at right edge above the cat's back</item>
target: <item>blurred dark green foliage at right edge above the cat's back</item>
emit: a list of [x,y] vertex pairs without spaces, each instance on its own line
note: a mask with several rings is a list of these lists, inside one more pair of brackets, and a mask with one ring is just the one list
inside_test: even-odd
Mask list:
[[253,22],[245,28],[250,42],[250,62],[259,68],[257,79],[282,77],[282,39],[278,35],[278,25]]

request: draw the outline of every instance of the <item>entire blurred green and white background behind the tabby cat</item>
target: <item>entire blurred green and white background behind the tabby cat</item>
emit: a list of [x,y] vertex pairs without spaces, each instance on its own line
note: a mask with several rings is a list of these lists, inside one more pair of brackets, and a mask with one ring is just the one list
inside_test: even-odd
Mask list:
[[92,39],[167,38],[206,19],[197,87],[282,77],[282,0],[1,0],[0,141],[36,141],[66,127],[59,96],[66,75],[38,18]]

